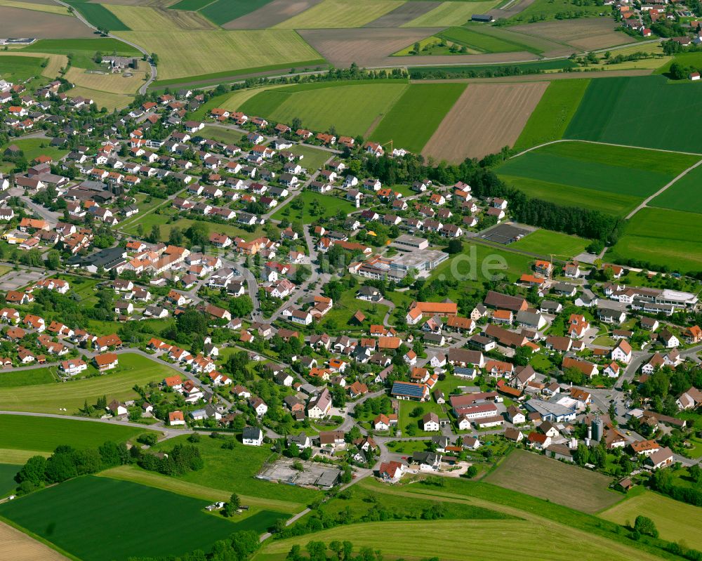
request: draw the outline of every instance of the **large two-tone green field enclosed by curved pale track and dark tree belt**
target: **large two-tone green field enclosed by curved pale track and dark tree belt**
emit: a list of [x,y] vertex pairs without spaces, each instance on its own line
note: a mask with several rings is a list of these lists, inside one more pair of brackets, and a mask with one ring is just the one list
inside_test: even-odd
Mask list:
[[696,161],[687,154],[563,142],[510,159],[497,171],[535,197],[623,214]]

